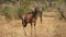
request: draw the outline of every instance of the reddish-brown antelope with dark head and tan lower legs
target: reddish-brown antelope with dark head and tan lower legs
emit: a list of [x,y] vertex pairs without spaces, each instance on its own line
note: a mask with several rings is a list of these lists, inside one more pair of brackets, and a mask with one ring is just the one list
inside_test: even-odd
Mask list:
[[[34,11],[20,16],[22,20],[23,29],[24,27],[26,27],[28,23],[31,24],[31,35],[32,35],[32,25],[33,25],[32,23],[34,23],[34,30],[35,30],[35,24],[36,24],[38,12],[40,12],[40,9],[35,8]],[[24,35],[26,35],[25,29],[24,29]]]

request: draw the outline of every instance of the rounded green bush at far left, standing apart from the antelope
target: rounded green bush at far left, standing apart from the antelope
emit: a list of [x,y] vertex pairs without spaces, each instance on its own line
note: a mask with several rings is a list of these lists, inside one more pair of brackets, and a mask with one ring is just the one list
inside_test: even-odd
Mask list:
[[2,10],[3,14],[6,15],[7,18],[14,18],[14,10],[11,7],[6,7]]

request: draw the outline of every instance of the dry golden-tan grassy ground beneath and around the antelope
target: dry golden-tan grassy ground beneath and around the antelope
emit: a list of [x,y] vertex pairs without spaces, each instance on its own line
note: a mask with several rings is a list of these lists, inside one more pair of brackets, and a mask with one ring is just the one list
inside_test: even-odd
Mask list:
[[[36,26],[32,30],[32,37],[66,37],[66,22],[59,21],[56,17],[43,16],[43,22],[37,18]],[[0,37],[31,37],[31,25],[25,27],[26,36],[24,35],[21,20],[0,21]]]

